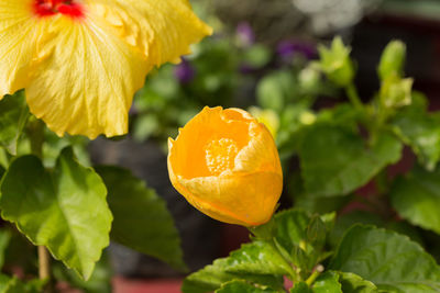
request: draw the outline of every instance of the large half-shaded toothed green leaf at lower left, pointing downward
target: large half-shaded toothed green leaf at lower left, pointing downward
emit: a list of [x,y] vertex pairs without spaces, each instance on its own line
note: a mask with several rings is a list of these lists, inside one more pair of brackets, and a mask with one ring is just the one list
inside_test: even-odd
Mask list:
[[109,245],[112,215],[101,178],[80,166],[70,148],[62,151],[53,171],[34,156],[15,159],[1,194],[4,219],[84,279],[90,277]]

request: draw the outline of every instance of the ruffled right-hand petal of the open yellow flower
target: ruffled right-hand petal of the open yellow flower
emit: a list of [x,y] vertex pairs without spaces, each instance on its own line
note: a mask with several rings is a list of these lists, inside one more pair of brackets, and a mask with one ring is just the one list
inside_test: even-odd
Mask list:
[[212,29],[193,12],[188,0],[86,1],[117,34],[140,48],[154,65],[175,61]]

